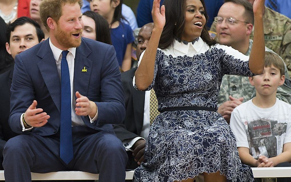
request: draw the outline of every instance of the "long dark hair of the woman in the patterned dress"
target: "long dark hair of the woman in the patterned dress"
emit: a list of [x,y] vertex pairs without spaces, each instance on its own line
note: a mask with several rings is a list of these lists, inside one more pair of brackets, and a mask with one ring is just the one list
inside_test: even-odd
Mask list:
[[[200,0],[204,7],[204,15],[206,22],[208,20],[208,15],[206,13],[206,7],[204,0]],[[165,0],[164,3],[166,11],[166,24],[164,26],[160,41],[159,48],[166,49],[173,45],[175,38],[182,40],[182,34],[184,32],[185,23],[185,8],[186,0]],[[201,36],[202,40],[207,43],[207,45],[214,45],[217,43],[216,40],[210,37],[206,24],[204,25]]]

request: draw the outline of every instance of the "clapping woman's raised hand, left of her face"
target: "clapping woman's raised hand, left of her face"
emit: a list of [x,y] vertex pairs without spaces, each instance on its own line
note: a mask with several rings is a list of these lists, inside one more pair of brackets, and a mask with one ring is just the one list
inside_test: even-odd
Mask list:
[[154,21],[154,27],[163,29],[166,23],[165,5],[162,5],[160,10],[161,0],[154,0],[152,5],[152,20]]

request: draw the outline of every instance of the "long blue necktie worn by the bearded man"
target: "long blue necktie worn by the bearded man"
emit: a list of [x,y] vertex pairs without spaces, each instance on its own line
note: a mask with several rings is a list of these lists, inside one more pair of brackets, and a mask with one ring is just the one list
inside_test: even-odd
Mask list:
[[62,52],[61,61],[61,133],[60,158],[68,164],[73,159],[72,116],[71,116],[71,85],[67,61],[69,51]]

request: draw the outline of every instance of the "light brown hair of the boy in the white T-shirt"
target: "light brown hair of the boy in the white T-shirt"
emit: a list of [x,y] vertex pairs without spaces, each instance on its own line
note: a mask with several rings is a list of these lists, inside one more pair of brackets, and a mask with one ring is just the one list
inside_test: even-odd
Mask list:
[[280,70],[280,75],[285,75],[285,66],[282,58],[276,53],[265,52],[265,67],[274,66]]

